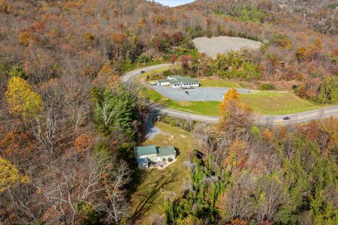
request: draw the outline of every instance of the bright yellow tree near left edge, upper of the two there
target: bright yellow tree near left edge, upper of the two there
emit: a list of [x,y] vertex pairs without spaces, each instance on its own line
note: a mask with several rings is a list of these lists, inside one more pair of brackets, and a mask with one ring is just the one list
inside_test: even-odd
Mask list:
[[12,115],[37,117],[42,113],[42,97],[33,91],[32,86],[20,77],[12,77],[5,93],[8,111]]

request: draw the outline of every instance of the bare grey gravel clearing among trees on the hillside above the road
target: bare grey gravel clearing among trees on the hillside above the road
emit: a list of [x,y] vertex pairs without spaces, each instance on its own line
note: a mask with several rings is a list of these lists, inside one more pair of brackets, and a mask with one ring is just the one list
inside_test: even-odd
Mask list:
[[199,52],[206,53],[215,58],[218,53],[227,53],[228,51],[239,51],[240,49],[259,49],[261,42],[252,41],[242,37],[198,37],[192,40]]

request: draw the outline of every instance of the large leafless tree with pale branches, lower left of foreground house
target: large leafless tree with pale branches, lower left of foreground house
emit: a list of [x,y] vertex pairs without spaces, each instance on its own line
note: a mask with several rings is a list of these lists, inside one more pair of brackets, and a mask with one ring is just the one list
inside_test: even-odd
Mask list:
[[107,224],[118,223],[129,211],[123,186],[129,181],[125,162],[112,158],[93,158],[72,153],[61,162],[51,162],[49,177],[37,178],[32,185],[42,195],[42,205],[56,212],[49,218],[65,224],[77,224],[81,207],[106,214]]

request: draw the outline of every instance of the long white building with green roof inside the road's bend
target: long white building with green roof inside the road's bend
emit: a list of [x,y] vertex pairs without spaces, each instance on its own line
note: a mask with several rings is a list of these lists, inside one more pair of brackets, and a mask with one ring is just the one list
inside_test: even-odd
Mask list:
[[169,76],[167,79],[158,79],[156,85],[178,87],[199,86],[199,80],[191,77]]

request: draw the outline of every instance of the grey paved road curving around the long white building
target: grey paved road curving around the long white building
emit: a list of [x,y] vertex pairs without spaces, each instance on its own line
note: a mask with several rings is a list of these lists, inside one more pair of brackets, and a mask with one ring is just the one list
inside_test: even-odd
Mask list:
[[[171,63],[164,63],[160,65],[151,65],[145,68],[139,68],[137,70],[132,70],[127,72],[121,78],[123,82],[131,82],[134,77],[142,74],[142,71],[149,72],[151,70],[157,70],[159,68],[170,68],[172,66]],[[173,117],[180,117],[184,119],[191,119],[197,120],[202,122],[211,122],[216,123],[219,120],[219,117],[212,117],[208,115],[199,115],[194,113],[184,113],[179,110],[174,110],[171,108],[165,108],[162,105],[157,105],[155,103],[151,103],[154,105],[154,110],[158,111],[158,113],[166,113]],[[273,125],[280,125],[280,124],[295,124],[299,122],[306,122],[309,120],[320,119],[324,117],[331,117],[334,115],[338,115],[338,106],[333,106],[330,108],[321,108],[318,110],[311,110],[304,113],[294,113],[290,115],[255,115],[254,121],[256,124],[273,124]],[[283,117],[289,116],[291,120],[283,120]]]

